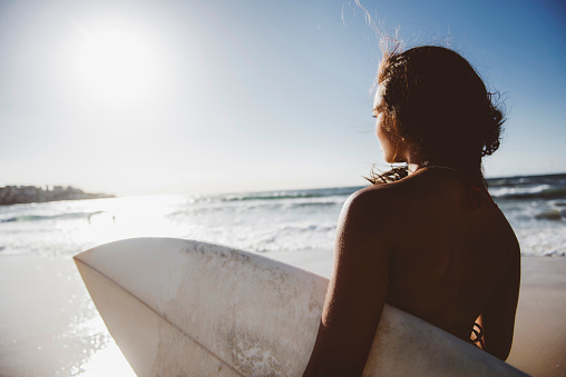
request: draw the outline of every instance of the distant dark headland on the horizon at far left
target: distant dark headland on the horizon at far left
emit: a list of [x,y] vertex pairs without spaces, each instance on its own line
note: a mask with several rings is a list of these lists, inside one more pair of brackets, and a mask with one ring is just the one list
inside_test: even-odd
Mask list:
[[51,189],[35,186],[6,186],[0,187],[0,206],[19,205],[28,202],[43,202],[56,200],[79,200],[115,198],[109,194],[89,194],[81,189],[67,186],[53,186]]

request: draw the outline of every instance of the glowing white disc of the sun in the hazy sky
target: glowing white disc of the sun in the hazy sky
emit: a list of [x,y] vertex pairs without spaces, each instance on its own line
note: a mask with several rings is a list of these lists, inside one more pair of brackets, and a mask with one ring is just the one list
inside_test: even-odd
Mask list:
[[106,30],[85,34],[78,51],[79,79],[100,99],[131,102],[152,89],[154,59],[135,33]]

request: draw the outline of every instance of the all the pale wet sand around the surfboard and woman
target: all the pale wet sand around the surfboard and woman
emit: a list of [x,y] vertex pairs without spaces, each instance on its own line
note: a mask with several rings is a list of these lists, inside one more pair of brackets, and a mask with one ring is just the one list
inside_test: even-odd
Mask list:
[[[329,276],[331,252],[270,255]],[[566,258],[524,257],[508,363],[566,376]],[[0,376],[131,376],[68,257],[0,257]]]

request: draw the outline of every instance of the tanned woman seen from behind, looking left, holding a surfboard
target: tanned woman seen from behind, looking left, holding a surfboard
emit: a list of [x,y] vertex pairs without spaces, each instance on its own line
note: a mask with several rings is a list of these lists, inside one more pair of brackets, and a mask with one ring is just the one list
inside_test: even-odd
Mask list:
[[373,105],[387,162],[340,216],[333,270],[305,376],[362,374],[384,302],[505,360],[519,292],[515,234],[481,158],[504,117],[460,54],[386,53]]

